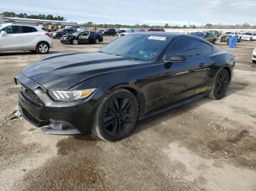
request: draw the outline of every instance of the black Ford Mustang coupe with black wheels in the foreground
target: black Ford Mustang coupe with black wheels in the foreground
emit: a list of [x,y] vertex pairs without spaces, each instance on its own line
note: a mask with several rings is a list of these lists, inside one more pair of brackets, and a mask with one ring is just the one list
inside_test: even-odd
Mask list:
[[53,55],[21,71],[20,113],[50,134],[94,133],[114,141],[137,120],[197,98],[220,99],[233,53],[183,34],[123,36],[100,52]]

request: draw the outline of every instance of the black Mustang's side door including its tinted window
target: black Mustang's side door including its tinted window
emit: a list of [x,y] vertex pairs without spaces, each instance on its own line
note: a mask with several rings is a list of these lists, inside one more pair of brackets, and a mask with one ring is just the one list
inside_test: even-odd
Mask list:
[[166,52],[167,60],[174,55],[184,55],[187,60],[181,63],[162,63],[162,76],[159,82],[159,105],[165,105],[195,95],[197,90],[207,85],[206,74],[211,61],[202,52],[201,41],[180,39]]

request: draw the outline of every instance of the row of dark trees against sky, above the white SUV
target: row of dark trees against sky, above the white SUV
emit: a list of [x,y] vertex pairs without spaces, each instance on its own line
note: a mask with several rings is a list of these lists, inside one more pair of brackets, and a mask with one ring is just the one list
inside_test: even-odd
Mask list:
[[64,20],[64,17],[53,15],[27,15],[26,13],[16,14],[15,12],[3,12],[4,17],[20,17],[20,18],[31,18],[31,19],[41,19],[41,20]]

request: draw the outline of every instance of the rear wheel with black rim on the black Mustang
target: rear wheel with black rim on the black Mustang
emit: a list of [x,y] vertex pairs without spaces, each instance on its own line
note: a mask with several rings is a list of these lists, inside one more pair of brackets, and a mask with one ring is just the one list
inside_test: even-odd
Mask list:
[[227,69],[221,69],[214,77],[214,83],[211,86],[211,91],[208,98],[219,100],[223,98],[227,92],[227,87],[230,83],[230,75]]

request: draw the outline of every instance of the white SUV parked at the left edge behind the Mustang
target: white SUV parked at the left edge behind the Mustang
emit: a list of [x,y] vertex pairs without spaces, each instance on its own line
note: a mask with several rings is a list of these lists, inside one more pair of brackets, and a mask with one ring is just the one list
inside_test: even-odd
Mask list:
[[30,50],[46,54],[51,47],[53,47],[53,40],[42,28],[15,23],[0,25],[0,52]]

